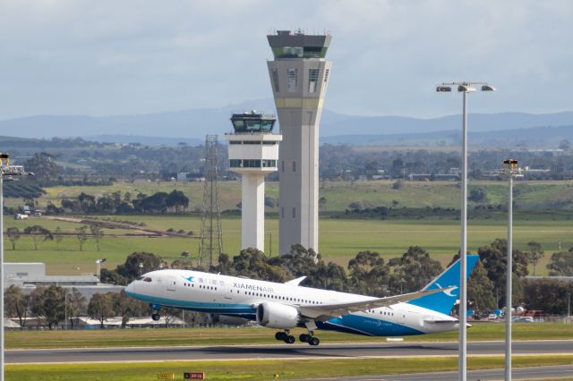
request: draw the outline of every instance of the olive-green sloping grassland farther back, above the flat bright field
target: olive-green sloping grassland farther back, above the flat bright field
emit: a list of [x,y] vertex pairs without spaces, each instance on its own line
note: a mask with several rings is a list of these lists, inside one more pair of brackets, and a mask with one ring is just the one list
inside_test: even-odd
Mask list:
[[[320,197],[327,201],[323,212],[344,211],[353,201],[362,201],[367,207],[392,205],[398,207],[459,207],[458,182],[404,182],[399,190],[392,189],[394,181],[376,182],[321,182]],[[479,187],[486,191],[487,202],[493,205],[505,203],[507,185],[504,182],[470,181],[469,189]],[[515,201],[522,208],[559,208],[573,210],[573,181],[516,182]],[[191,200],[192,210],[201,207],[202,182],[117,182],[111,186],[69,186],[46,188],[47,194],[38,199],[41,207],[47,202],[59,205],[62,199],[76,198],[81,192],[94,196],[115,191],[138,193],[150,196],[157,191],[181,190]],[[267,182],[266,196],[278,199],[278,182]],[[221,210],[235,209],[241,201],[240,182],[219,183]],[[6,199],[6,205],[21,205],[21,199]],[[470,203],[471,205],[471,203]],[[268,211],[277,211],[268,209]]]

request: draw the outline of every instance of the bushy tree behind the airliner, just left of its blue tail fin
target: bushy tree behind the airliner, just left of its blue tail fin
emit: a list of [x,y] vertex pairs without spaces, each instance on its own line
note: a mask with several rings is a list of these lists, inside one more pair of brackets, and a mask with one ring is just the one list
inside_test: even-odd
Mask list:
[[394,269],[389,289],[395,293],[418,291],[443,271],[440,262],[420,246],[410,246],[401,258],[390,259],[388,265]]

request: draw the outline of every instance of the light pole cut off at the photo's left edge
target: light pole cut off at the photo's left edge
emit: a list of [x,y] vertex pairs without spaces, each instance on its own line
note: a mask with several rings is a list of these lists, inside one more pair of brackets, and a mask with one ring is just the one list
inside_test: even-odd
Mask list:
[[[10,155],[0,153],[0,381],[4,381],[4,180],[32,174],[22,165],[10,165]],[[5,179],[4,179],[5,176]]]

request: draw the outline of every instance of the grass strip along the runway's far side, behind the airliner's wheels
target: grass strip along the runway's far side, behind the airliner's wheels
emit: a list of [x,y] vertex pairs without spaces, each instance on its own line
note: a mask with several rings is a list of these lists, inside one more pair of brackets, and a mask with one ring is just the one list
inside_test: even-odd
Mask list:
[[[468,332],[470,341],[503,340],[504,326],[499,323],[475,323]],[[302,329],[294,334],[304,333]],[[322,343],[383,343],[385,337],[321,331]],[[513,326],[514,340],[573,339],[573,325],[563,323],[521,323]],[[406,336],[406,342],[457,341],[458,331],[444,334]],[[168,328],[78,331],[7,331],[6,348],[92,348],[120,346],[176,346],[225,344],[276,344],[274,332],[263,327]]]

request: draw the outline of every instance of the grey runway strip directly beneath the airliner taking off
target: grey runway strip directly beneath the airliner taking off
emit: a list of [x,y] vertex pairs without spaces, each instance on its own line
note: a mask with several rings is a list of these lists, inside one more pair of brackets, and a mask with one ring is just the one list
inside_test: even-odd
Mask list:
[[[571,354],[573,340],[520,341],[513,343],[513,353]],[[473,342],[468,355],[500,355],[503,342]],[[265,360],[265,359],[356,359],[369,357],[457,356],[458,343],[323,343],[308,344],[224,345],[184,347],[137,347],[98,349],[47,349],[5,351],[5,362],[72,363],[135,362],[173,360]]]

